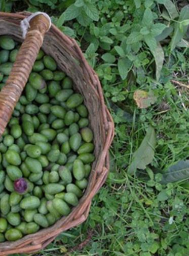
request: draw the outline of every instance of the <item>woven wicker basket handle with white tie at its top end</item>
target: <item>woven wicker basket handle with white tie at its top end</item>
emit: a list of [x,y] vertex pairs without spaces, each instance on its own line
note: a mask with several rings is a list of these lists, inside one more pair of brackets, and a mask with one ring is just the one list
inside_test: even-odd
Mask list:
[[45,33],[51,26],[49,16],[44,13],[32,14],[23,21],[25,22],[24,29],[23,25],[21,28],[25,40],[19,49],[9,78],[0,92],[0,137],[25,87],[33,63],[43,44]]

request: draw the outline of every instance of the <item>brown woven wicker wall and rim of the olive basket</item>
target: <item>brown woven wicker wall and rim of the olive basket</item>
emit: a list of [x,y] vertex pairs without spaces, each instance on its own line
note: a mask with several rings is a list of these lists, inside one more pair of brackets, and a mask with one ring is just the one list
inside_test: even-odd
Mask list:
[[[9,14],[0,12],[0,35],[11,35],[15,40],[22,42],[20,21],[26,16],[28,16],[28,13]],[[84,97],[85,105],[89,110],[90,126],[94,132],[96,159],[92,166],[88,187],[79,205],[74,207],[67,217],[62,217],[50,228],[27,235],[16,242],[1,243],[1,256],[11,253],[39,251],[61,232],[84,222],[88,217],[91,201],[105,182],[109,168],[108,149],[114,137],[114,122],[104,104],[97,75],[88,65],[78,44],[73,39],[63,35],[54,25],[51,26],[45,36],[42,49],[56,60],[60,70],[72,78],[74,89]],[[12,88],[13,86],[14,84]],[[6,108],[9,109],[9,106],[6,106]],[[1,110],[2,98],[0,98]]]

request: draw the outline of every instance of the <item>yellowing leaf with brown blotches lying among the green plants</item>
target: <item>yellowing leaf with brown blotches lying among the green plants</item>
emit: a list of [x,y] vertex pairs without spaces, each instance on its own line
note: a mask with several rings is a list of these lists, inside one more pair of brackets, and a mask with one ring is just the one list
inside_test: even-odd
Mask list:
[[157,101],[157,97],[153,91],[147,92],[144,90],[135,90],[133,99],[140,109],[147,108]]

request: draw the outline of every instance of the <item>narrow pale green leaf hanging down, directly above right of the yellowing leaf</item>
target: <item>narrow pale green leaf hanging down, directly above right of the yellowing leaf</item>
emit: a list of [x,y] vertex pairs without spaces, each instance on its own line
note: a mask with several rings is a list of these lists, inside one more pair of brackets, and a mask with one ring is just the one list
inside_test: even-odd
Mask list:
[[156,80],[158,81],[160,79],[161,70],[163,67],[164,51],[163,51],[161,44],[158,42],[156,49],[151,50],[151,52],[152,52],[155,62],[156,62]]

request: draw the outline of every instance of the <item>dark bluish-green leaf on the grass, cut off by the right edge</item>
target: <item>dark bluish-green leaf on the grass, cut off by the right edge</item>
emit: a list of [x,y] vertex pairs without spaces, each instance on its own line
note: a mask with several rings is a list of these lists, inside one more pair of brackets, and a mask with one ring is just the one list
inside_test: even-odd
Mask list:
[[179,161],[171,166],[164,174],[161,183],[176,182],[189,178],[189,160]]

